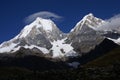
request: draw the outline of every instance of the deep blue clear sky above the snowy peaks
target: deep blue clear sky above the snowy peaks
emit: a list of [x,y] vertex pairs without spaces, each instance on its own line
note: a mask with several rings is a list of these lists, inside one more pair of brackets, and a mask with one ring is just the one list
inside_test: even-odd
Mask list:
[[40,11],[62,16],[56,24],[69,32],[88,13],[101,19],[119,14],[120,0],[0,0],[0,43],[16,36],[26,25],[25,18]]

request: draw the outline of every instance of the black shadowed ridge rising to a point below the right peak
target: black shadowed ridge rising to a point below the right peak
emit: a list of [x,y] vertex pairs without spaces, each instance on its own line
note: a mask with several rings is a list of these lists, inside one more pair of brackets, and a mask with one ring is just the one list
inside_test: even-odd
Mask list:
[[92,60],[104,56],[106,53],[116,47],[119,47],[119,45],[109,39],[104,39],[103,42],[94,48],[94,50],[91,50],[88,54],[83,54],[83,56],[80,58],[80,62],[81,64],[89,63]]

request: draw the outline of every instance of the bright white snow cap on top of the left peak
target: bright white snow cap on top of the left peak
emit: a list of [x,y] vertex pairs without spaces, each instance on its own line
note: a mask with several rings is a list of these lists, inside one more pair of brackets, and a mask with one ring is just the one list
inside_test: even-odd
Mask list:
[[19,38],[26,37],[33,29],[36,29],[38,33],[41,33],[39,29],[42,29],[45,32],[52,32],[54,26],[56,25],[50,19],[43,19],[38,17],[30,25],[24,27],[24,29],[21,31],[19,35]]

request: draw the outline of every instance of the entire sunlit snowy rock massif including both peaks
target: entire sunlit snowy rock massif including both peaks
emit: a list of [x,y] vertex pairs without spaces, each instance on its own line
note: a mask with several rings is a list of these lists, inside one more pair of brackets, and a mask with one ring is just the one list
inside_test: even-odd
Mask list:
[[0,53],[14,56],[23,53],[52,59],[82,56],[94,50],[105,38],[112,40],[116,37],[115,34],[97,30],[104,23],[104,20],[90,13],[65,34],[52,20],[38,17],[25,26],[16,37],[3,42],[0,45]]

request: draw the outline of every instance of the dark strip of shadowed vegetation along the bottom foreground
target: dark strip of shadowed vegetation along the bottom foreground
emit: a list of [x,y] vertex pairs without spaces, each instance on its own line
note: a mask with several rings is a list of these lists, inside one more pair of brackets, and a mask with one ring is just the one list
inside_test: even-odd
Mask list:
[[120,80],[120,64],[104,68],[29,71],[23,68],[0,68],[0,80]]

